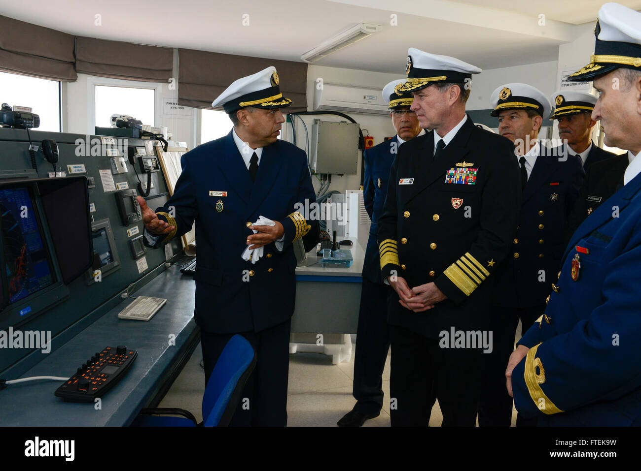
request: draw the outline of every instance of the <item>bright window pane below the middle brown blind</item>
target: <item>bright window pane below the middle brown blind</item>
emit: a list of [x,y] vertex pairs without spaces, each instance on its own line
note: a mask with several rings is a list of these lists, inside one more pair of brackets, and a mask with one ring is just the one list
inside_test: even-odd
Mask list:
[[110,117],[115,114],[156,125],[156,88],[95,84],[94,106],[96,126],[110,127]]

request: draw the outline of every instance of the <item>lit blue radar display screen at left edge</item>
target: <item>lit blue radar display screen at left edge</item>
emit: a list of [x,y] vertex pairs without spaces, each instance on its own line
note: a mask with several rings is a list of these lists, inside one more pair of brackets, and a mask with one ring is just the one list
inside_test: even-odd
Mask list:
[[0,189],[0,216],[9,302],[52,285],[53,267],[27,188]]

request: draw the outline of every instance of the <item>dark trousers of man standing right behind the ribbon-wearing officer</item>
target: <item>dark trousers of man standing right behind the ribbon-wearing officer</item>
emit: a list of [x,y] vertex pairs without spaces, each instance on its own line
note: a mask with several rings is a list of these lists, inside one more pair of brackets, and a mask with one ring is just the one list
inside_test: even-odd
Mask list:
[[[492,307],[490,329],[494,349],[485,355],[485,372],[479,401],[479,426],[509,427],[512,424],[513,399],[506,388],[505,369],[514,351],[514,338],[519,325],[526,331],[543,314],[545,305],[528,308]],[[522,419],[517,426],[536,426],[537,419]]]

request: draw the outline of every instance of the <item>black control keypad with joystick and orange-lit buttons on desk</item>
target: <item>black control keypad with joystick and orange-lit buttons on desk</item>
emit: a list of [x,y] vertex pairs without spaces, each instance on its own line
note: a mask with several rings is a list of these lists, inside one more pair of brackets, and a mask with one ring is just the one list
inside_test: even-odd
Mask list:
[[137,356],[137,351],[122,345],[106,347],[83,363],[74,376],[56,389],[55,395],[65,401],[92,403],[122,379]]

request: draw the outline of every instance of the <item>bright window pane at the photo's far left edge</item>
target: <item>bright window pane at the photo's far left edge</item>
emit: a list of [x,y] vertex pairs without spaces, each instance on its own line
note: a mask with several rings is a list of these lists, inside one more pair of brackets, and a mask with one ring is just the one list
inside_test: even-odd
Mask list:
[[60,82],[0,72],[0,100],[28,106],[40,116],[38,131],[60,132]]

